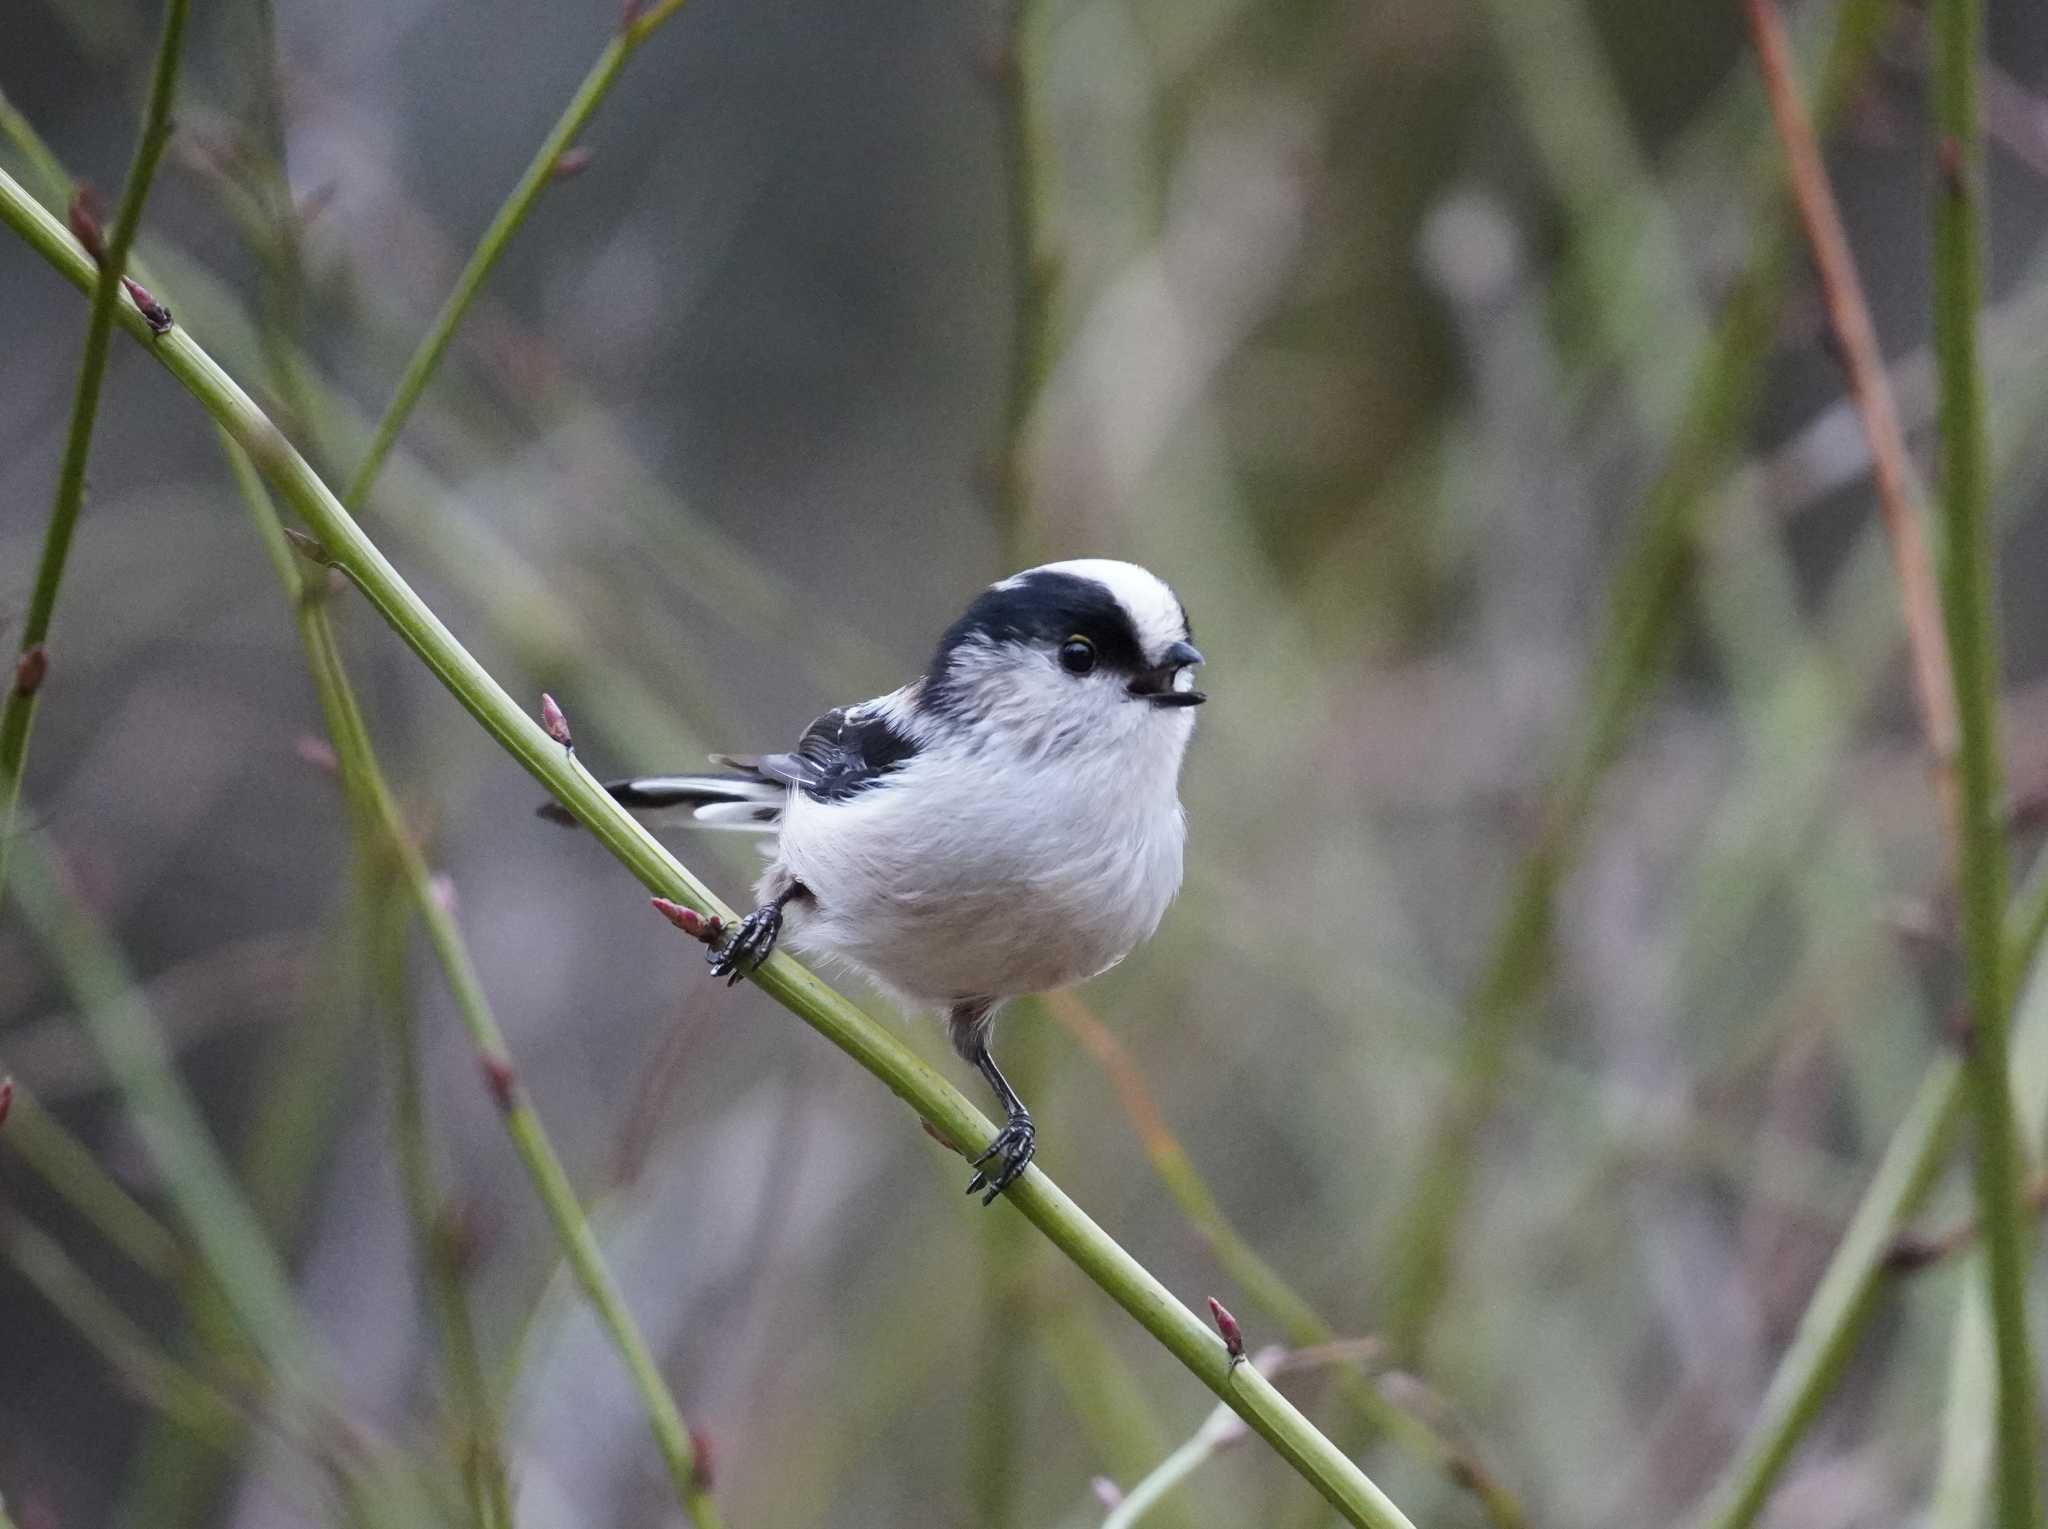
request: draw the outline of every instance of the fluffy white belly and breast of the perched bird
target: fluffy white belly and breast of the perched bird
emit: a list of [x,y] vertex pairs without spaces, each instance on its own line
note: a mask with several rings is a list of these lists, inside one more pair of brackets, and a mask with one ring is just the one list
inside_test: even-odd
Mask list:
[[1128,776],[1059,770],[1008,784],[903,780],[825,804],[795,794],[764,878],[811,890],[788,907],[791,948],[920,1003],[1044,993],[1120,962],[1180,888],[1171,774],[1145,792]]

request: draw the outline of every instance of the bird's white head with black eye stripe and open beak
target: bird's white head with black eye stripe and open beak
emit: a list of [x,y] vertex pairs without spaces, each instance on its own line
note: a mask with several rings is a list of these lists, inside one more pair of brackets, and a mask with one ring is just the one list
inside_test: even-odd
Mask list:
[[1032,753],[1161,745],[1194,733],[1202,655],[1188,612],[1137,563],[1075,559],[993,583],[946,628],[920,706]]

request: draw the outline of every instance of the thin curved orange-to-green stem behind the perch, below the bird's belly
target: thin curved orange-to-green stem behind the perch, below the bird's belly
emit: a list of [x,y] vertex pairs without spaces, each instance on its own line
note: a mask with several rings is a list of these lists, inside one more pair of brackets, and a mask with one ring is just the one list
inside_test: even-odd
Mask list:
[[[1180,1214],[1208,1244],[1217,1265],[1237,1281],[1251,1302],[1280,1324],[1282,1337],[1298,1347],[1319,1347],[1337,1341],[1337,1330],[1274,1269],[1231,1224],[1214,1191],[1202,1181],[1188,1150],[1165,1124],[1165,1116],[1145,1087],[1145,1075],[1130,1050],[1073,993],[1049,993],[1040,999],[1059,1025],[1102,1064],[1145,1148],[1145,1159],[1159,1175]],[[1380,1394],[1360,1365],[1339,1365],[1337,1392],[1358,1421],[1384,1433],[1415,1459],[1444,1472],[1454,1484],[1473,1492],[1487,1517],[1499,1529],[1522,1529],[1528,1515],[1516,1494],[1464,1445],[1442,1433],[1427,1416]]]

